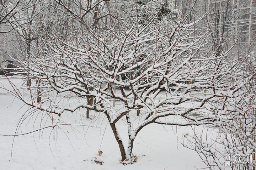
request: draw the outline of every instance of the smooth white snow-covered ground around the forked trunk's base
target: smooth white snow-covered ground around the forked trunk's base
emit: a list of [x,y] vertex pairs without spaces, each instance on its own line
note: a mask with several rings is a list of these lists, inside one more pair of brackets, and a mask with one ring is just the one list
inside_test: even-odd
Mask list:
[[[7,79],[0,77],[3,85]],[[14,80],[18,82],[18,80]],[[0,89],[0,134],[15,134],[17,122],[27,111],[23,103]],[[20,109],[21,108],[21,109]],[[41,114],[25,120],[16,134],[22,134],[40,126]],[[50,125],[48,120],[43,123]],[[88,126],[60,126],[23,136],[0,136],[0,170],[193,170],[205,168],[199,155],[177,141],[188,128],[151,124],[135,138],[133,165],[119,163],[121,154],[104,115],[91,115],[86,119],[81,113],[62,116],[62,121]],[[93,127],[91,127],[93,126]],[[125,124],[118,124],[122,138],[126,139]],[[103,154],[98,156],[98,151]],[[96,159],[97,158],[97,159]],[[103,161],[96,164],[94,160]],[[196,168],[195,168],[196,167]]]

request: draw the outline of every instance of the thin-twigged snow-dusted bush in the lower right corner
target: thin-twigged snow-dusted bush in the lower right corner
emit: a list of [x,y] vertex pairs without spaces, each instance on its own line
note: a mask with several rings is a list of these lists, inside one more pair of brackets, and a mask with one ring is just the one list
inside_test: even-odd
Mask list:
[[191,126],[193,132],[182,141],[201,155],[209,169],[256,167],[256,60],[254,52],[243,51],[245,56],[240,55],[241,65],[234,75],[239,77],[235,88],[220,93],[215,107],[211,107],[217,121],[212,126]]

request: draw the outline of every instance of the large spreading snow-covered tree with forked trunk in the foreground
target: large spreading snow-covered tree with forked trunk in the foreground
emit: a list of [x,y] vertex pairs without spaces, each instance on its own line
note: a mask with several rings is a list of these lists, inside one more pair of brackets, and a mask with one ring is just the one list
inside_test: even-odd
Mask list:
[[[31,78],[40,80],[42,99],[36,100],[37,85],[28,90],[30,100],[22,95],[24,88],[10,91],[44,112],[53,127],[63,113],[83,108],[104,113],[122,162],[133,163],[135,137],[146,125],[215,126],[226,116],[229,103],[217,103],[222,97],[229,100],[230,91],[237,95],[239,78],[233,77],[239,64],[229,60],[234,44],[218,56],[204,48],[213,42],[209,30],[199,27],[205,16],[188,21],[192,10],[178,15],[169,1],[75,2],[56,1],[65,13],[54,21],[58,29],[43,28],[38,52],[18,60]],[[95,20],[97,27],[89,24]],[[127,124],[127,148],[117,128],[120,121]]]

